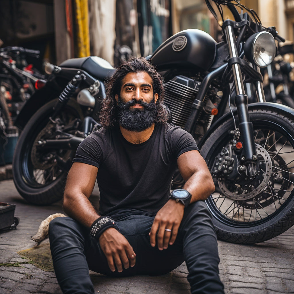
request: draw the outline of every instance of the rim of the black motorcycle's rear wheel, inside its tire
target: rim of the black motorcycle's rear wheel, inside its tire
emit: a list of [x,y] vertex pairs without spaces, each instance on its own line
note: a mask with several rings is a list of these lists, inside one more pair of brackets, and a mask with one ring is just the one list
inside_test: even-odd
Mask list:
[[[64,166],[58,164],[56,157],[65,161],[71,161],[74,151],[71,150],[42,150],[38,148],[38,140],[54,139],[56,134],[53,123],[49,121],[52,109],[44,116],[39,117],[24,139],[23,148],[20,151],[20,168],[26,185],[31,188],[44,188],[58,181],[65,174]],[[66,106],[57,119],[66,127],[78,117],[76,111]],[[47,132],[51,130],[51,134]]]

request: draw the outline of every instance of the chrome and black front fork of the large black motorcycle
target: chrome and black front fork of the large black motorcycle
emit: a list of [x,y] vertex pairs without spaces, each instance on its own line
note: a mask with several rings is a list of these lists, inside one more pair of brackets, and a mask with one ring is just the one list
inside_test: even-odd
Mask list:
[[[235,44],[235,34],[233,26],[230,23],[225,26],[225,36],[227,39],[230,58],[238,57],[238,50]],[[248,113],[248,96],[245,94],[240,65],[238,63],[232,64],[232,71],[237,94],[235,96],[235,104],[239,118],[239,126],[236,131],[240,132],[240,141],[243,143],[240,162],[247,165],[250,170],[250,174],[254,175],[257,156],[254,143],[253,124],[250,122]],[[256,86],[258,85],[255,85],[255,88]],[[256,88],[256,94],[259,97],[259,101],[260,99],[264,99],[264,93],[262,93],[262,84],[260,83],[259,87]],[[263,95],[263,98],[260,98],[260,95]]]

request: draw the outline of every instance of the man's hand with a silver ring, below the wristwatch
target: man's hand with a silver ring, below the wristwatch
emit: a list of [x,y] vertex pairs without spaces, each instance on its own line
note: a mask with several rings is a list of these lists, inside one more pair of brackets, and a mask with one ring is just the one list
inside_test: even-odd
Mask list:
[[[168,245],[173,245],[178,235],[179,226],[183,219],[184,208],[185,206],[183,203],[170,199],[158,211],[149,233],[152,247],[155,247],[156,233],[159,250],[168,248]],[[166,231],[166,229],[171,231]]]

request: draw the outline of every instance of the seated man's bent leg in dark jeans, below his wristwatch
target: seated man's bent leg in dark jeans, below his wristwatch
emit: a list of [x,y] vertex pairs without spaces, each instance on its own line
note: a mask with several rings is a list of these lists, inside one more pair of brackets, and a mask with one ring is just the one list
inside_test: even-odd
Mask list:
[[218,244],[206,203],[197,201],[184,212],[179,234],[188,267],[191,293],[223,293],[218,276]]

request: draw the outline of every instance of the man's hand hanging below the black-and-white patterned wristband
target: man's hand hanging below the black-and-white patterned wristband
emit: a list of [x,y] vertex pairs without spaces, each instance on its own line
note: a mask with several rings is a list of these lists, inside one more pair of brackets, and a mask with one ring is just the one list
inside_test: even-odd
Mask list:
[[118,272],[121,273],[123,267],[128,268],[130,265],[131,267],[135,265],[136,254],[132,246],[115,228],[105,230],[99,238],[99,243],[111,271],[114,272],[116,266]]

